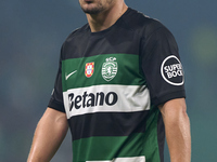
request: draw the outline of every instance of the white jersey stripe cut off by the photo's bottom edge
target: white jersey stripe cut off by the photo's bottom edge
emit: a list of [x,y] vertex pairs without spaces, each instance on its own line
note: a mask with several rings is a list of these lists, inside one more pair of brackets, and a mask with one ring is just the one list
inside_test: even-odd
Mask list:
[[131,158],[116,158],[112,161],[86,161],[86,162],[145,162],[145,157],[131,157]]

